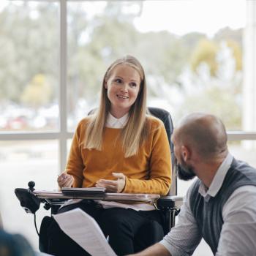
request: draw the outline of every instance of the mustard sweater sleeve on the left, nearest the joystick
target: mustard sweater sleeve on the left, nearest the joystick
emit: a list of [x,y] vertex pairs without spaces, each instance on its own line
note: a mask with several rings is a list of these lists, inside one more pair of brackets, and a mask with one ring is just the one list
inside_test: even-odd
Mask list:
[[69,151],[69,158],[66,165],[67,173],[74,177],[74,182],[72,184],[73,187],[82,187],[83,183],[83,169],[85,166],[83,165],[80,148],[81,127],[82,121],[80,121],[77,129],[75,130],[75,135],[72,139],[72,144]]

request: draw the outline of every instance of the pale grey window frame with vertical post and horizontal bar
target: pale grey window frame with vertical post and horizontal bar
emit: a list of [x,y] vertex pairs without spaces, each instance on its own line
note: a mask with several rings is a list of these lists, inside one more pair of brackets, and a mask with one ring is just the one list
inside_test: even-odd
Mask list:
[[[9,0],[14,1],[14,0]],[[57,132],[0,132],[0,141],[4,140],[58,140],[59,173],[65,170],[67,162],[67,140],[73,132],[67,130],[67,2],[74,0],[23,0],[48,1],[59,3],[59,130]],[[98,1],[98,0],[76,0]],[[108,1],[108,0],[107,0]],[[227,131],[228,140],[256,140],[255,132]]]

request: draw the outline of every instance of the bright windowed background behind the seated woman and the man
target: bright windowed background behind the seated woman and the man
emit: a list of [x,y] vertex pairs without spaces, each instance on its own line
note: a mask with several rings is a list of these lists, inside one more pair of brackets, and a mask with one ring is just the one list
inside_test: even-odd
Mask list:
[[[225,123],[230,152],[256,167],[256,1],[0,2],[0,211],[38,249],[15,187],[57,189],[78,121],[97,107],[108,65],[146,71],[148,106]],[[191,182],[190,182],[191,183]],[[178,181],[178,195],[189,182]],[[39,209],[37,225],[50,212]],[[194,255],[212,255],[201,243]]]

